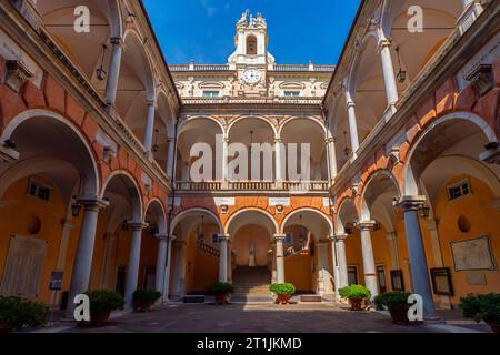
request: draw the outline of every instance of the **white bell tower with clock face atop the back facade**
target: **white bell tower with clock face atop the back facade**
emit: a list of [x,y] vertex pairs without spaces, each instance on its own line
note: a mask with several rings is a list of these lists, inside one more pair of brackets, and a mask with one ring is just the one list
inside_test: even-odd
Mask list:
[[236,51],[229,57],[231,70],[237,71],[238,95],[266,97],[267,70],[274,65],[268,52],[268,26],[262,13],[254,18],[249,10],[238,21],[234,36]]

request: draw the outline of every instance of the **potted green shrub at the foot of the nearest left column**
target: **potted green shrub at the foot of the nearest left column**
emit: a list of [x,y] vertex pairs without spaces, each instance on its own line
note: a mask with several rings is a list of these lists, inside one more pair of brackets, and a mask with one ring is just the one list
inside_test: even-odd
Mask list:
[[124,300],[121,294],[108,290],[87,291],[86,295],[90,301],[90,322],[88,325],[100,325],[106,323],[111,315],[111,311],[122,310]]

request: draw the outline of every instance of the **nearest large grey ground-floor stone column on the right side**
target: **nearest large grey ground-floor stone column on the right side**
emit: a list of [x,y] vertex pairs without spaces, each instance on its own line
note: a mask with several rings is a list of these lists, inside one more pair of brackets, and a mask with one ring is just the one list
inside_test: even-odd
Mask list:
[[427,266],[418,213],[424,201],[424,196],[403,196],[399,203],[399,207],[404,211],[404,230],[407,233],[413,292],[419,294],[423,300],[423,318],[437,320],[439,317],[436,315],[432,290],[429,283],[429,268]]

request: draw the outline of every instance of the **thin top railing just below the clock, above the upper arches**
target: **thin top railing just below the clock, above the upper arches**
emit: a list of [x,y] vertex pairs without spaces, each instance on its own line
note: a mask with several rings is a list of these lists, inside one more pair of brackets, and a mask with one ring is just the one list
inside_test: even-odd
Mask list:
[[253,103],[253,104],[321,104],[321,98],[309,97],[276,97],[276,98],[183,98],[184,104],[223,104],[223,103]]

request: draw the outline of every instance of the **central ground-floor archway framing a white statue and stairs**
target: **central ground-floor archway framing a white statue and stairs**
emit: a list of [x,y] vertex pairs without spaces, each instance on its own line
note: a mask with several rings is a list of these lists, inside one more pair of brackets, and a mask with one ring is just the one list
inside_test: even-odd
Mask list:
[[263,211],[241,211],[229,220],[227,231],[229,280],[236,286],[236,297],[270,301],[269,284],[276,268],[271,245],[276,221]]

